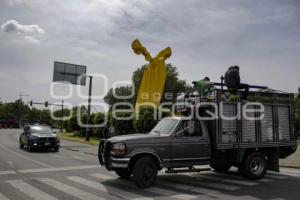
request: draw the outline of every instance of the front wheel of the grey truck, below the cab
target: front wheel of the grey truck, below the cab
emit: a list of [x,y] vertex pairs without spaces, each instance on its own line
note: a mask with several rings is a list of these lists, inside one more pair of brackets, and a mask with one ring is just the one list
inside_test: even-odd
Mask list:
[[157,177],[157,164],[151,157],[138,159],[133,168],[133,181],[140,188],[154,184]]

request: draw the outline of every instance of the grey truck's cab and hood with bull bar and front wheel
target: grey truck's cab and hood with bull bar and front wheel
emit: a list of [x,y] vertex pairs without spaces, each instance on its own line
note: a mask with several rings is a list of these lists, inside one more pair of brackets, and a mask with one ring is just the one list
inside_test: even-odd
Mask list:
[[102,141],[99,160],[120,177],[133,174],[139,187],[151,186],[162,168],[209,164],[210,140],[204,122],[187,117],[162,119],[149,134],[132,134]]

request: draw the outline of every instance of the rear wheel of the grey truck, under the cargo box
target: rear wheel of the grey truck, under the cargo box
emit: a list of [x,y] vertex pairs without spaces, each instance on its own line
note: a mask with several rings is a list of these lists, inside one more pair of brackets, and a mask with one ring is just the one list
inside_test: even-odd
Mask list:
[[257,180],[264,177],[267,173],[266,156],[260,152],[249,154],[239,166],[239,172],[244,177]]

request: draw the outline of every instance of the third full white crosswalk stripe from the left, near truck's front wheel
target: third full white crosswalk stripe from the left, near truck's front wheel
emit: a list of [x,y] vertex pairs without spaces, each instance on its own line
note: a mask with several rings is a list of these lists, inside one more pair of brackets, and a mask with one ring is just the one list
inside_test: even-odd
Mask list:
[[139,194],[135,194],[135,193],[128,192],[128,191],[125,191],[125,190],[121,190],[121,189],[111,187],[111,186],[108,186],[108,185],[103,185],[102,183],[87,180],[87,179],[84,179],[84,178],[81,178],[81,177],[78,177],[78,176],[69,176],[67,178],[71,181],[76,182],[76,183],[83,184],[85,186],[91,187],[91,188],[93,188],[95,190],[98,190],[98,191],[111,193],[111,194],[117,195],[121,198],[125,198],[125,199],[140,199],[140,198],[143,198],[143,199],[151,200],[151,198],[145,198],[144,196],[141,196]]

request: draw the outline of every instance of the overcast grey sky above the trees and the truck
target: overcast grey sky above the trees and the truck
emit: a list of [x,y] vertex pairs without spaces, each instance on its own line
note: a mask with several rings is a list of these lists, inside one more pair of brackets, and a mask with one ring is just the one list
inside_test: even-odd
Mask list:
[[[138,38],[152,55],[170,46],[167,62],[189,84],[219,81],[231,65],[242,82],[286,92],[300,86],[298,0],[0,0],[0,101],[19,93],[24,101],[59,102],[51,85],[53,62],[87,66],[108,87],[130,81],[145,60]],[[95,78],[94,102],[103,102],[104,80]],[[67,95],[69,85],[53,86]],[[79,87],[84,94],[88,87]],[[77,89],[65,102],[85,103]]]

